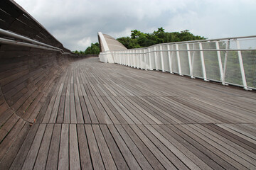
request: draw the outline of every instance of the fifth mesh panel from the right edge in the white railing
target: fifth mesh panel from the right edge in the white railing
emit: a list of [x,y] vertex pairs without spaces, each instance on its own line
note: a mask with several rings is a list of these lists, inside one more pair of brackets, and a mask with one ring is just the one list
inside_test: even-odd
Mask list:
[[[187,50],[186,44],[178,45],[178,50]],[[181,60],[181,74],[189,75],[188,52],[179,52]]]

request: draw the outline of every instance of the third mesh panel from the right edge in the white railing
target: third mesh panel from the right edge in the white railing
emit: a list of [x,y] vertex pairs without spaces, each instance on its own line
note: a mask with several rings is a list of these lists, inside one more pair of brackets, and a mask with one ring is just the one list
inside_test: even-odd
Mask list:
[[[216,49],[215,42],[202,43],[203,50]],[[218,55],[215,51],[204,51],[204,61],[206,65],[206,77],[207,79],[220,80],[220,67],[218,63]]]

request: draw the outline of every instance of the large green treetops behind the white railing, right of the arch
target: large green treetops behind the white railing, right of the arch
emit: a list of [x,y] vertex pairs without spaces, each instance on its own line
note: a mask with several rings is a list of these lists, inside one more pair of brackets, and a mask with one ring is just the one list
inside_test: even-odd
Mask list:
[[139,48],[139,47],[149,47],[151,45],[166,43],[166,42],[178,42],[178,41],[188,41],[188,40],[205,40],[206,38],[193,35],[189,33],[189,30],[183,30],[181,33],[164,32],[164,28],[158,28],[158,30],[153,33],[142,33],[139,30],[132,30],[130,37],[117,38],[127,48]]

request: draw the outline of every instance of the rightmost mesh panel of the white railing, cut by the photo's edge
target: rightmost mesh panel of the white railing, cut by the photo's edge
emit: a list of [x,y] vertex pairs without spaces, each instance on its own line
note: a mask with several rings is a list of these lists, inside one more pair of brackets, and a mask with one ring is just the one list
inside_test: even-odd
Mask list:
[[256,88],[256,51],[242,51],[247,86]]

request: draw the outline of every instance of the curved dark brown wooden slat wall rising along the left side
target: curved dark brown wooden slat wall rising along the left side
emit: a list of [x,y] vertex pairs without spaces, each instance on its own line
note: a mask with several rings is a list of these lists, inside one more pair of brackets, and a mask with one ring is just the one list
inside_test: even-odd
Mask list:
[[[70,52],[14,1],[1,0],[0,8],[1,29]],[[0,38],[6,37],[0,34]],[[70,55],[57,51],[0,43],[0,167],[9,168],[31,124],[53,94],[60,74],[72,60]]]

